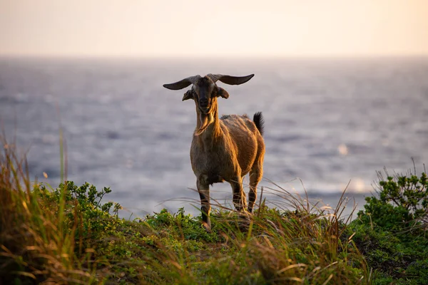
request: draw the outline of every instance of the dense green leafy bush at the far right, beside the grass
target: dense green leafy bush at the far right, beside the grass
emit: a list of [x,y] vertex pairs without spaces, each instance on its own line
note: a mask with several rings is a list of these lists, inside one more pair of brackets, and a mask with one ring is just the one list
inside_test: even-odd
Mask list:
[[379,174],[377,185],[378,196],[366,197],[365,209],[350,224],[357,247],[375,269],[374,284],[427,284],[427,174]]

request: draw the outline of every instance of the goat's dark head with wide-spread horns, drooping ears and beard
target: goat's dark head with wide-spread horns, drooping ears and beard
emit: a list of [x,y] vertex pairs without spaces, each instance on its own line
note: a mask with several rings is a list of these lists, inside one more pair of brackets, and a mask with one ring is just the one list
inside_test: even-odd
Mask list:
[[218,87],[215,82],[221,81],[229,85],[239,85],[249,81],[254,74],[249,76],[225,76],[223,74],[208,74],[207,76],[190,76],[175,83],[164,84],[163,87],[170,90],[180,90],[192,84],[192,88],[184,93],[183,101],[188,99],[195,100],[196,110],[200,113],[200,128],[197,135],[203,133],[213,120],[213,112],[217,108],[217,98],[228,98],[228,91]]

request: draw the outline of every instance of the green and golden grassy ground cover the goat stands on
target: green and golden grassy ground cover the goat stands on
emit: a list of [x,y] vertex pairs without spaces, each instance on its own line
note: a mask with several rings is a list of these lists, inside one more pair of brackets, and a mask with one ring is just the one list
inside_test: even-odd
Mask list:
[[[183,209],[121,219],[106,187],[31,183],[6,141],[0,165],[0,284],[424,284],[423,229],[414,255],[366,212],[342,219],[343,196],[329,213],[277,187],[292,208],[260,199],[248,218],[218,205],[208,233]],[[397,246],[417,261],[404,272]]]

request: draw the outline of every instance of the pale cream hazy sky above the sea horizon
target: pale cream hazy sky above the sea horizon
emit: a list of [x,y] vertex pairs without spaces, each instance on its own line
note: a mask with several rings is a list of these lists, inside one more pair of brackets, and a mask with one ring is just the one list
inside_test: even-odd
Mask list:
[[428,0],[0,0],[0,55],[428,56]]

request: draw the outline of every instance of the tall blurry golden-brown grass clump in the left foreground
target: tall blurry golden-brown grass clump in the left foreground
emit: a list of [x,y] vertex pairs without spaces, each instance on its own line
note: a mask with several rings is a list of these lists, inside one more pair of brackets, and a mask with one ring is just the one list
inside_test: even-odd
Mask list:
[[40,199],[25,156],[0,136],[0,284],[88,284],[93,277],[76,260],[75,232],[66,228],[63,209]]

